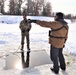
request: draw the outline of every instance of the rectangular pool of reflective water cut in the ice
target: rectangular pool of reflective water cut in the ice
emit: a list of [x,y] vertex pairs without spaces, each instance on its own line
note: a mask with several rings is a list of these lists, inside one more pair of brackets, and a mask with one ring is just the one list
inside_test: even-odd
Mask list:
[[35,67],[44,64],[51,64],[50,56],[46,51],[37,52],[21,52],[16,54],[10,54],[5,59],[5,70],[8,69],[20,69],[27,67]]

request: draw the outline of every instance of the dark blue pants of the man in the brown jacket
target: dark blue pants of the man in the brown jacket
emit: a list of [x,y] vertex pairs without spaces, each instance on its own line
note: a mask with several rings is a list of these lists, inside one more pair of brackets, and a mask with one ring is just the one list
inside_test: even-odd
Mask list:
[[66,68],[65,59],[62,51],[63,48],[55,48],[52,45],[50,47],[50,58],[53,62],[53,68],[56,71],[59,71],[59,66],[63,70]]

